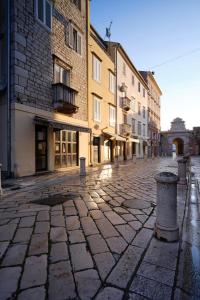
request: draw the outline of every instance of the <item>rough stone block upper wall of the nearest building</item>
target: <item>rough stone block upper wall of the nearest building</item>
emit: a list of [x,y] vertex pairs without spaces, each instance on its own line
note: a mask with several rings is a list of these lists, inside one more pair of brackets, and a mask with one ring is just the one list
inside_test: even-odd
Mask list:
[[[78,91],[79,112],[87,116],[87,0],[82,10],[71,0],[52,1],[52,30],[39,22],[35,0],[12,2],[11,100],[53,111],[53,65],[57,57],[71,70],[70,86]],[[82,34],[82,55],[68,46],[69,22]]]

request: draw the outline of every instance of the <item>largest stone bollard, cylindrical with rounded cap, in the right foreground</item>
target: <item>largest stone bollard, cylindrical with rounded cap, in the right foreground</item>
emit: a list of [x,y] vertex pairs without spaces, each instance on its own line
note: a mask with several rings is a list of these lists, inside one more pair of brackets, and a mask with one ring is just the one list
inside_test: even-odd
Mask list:
[[178,176],[162,172],[155,176],[157,182],[157,212],[154,235],[158,239],[173,242],[179,238],[177,225]]

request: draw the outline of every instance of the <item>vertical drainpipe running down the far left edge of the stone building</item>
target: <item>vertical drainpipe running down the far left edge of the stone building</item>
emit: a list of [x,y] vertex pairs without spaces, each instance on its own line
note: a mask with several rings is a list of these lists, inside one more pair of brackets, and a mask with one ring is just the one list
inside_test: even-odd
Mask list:
[[7,170],[8,176],[11,176],[11,99],[10,99],[10,0],[7,1],[7,146],[8,146],[8,157],[7,157]]

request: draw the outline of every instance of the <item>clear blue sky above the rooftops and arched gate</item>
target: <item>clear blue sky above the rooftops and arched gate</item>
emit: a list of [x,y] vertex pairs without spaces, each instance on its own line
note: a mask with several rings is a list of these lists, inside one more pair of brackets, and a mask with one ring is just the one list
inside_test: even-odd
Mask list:
[[200,0],[92,0],[90,6],[101,36],[112,21],[111,40],[139,70],[155,71],[162,130],[176,117],[188,129],[200,126]]

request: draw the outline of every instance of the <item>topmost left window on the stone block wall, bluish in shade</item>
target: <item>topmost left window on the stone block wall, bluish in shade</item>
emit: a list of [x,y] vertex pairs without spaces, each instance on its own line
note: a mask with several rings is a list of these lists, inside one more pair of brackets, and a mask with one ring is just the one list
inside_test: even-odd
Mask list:
[[48,0],[36,0],[36,17],[48,29],[52,27],[52,4]]

